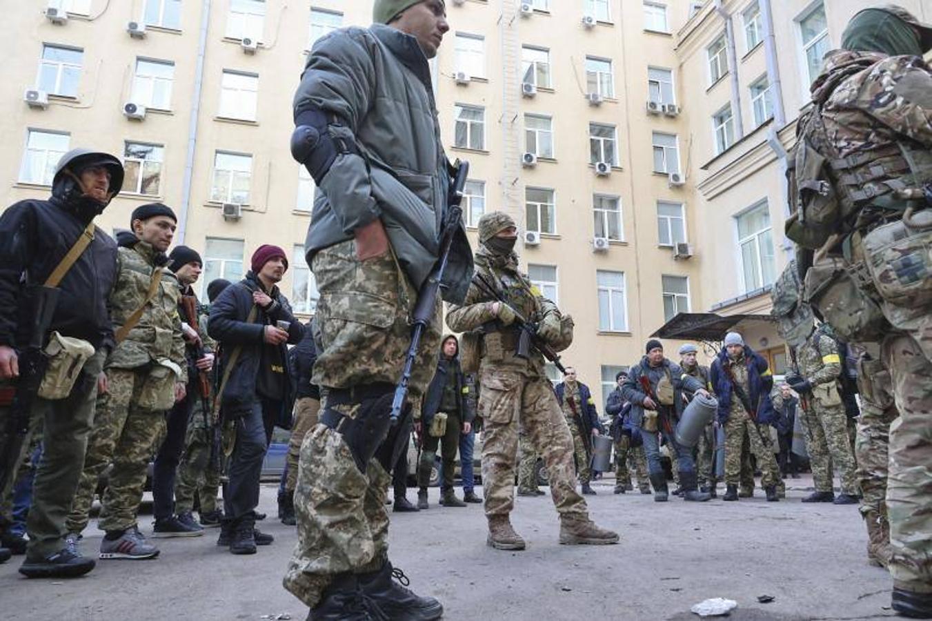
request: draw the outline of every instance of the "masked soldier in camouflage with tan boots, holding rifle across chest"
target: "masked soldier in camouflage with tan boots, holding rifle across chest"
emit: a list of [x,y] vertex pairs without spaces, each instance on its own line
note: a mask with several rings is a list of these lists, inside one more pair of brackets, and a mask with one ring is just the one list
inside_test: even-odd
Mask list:
[[[583,497],[576,492],[572,437],[544,373],[540,352],[528,358],[514,355],[519,313],[539,323],[538,335],[555,346],[569,347],[571,319],[561,318],[550,300],[541,297],[517,269],[514,242],[517,228],[508,214],[493,212],[479,220],[476,275],[462,306],[454,305],[446,324],[454,332],[482,329],[479,366],[479,415],[485,425],[482,480],[488,519],[487,544],[498,549],[524,549],[509,514],[514,507],[514,462],[518,421],[543,458],[550,493],[560,515],[561,544],[614,544],[618,535],[600,529],[589,519]],[[494,287],[494,290],[489,290]],[[496,300],[496,295],[505,302]],[[473,340],[463,342],[464,357]]]

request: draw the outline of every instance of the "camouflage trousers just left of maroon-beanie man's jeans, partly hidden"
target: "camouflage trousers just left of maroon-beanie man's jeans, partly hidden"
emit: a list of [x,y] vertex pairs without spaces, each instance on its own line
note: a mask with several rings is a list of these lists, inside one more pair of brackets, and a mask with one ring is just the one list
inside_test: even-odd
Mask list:
[[204,422],[199,408],[187,424],[185,453],[178,464],[175,476],[175,512],[190,513],[194,510],[194,498],[198,497],[200,513],[212,513],[217,509],[217,492],[220,490],[220,461],[223,455],[215,457],[216,465],[211,466],[213,438],[212,430]]

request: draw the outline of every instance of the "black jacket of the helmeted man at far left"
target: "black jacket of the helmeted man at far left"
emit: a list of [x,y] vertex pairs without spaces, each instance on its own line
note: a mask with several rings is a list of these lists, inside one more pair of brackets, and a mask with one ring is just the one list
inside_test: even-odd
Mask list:
[[[89,219],[57,197],[21,200],[0,215],[0,345],[25,345],[28,318],[20,321],[22,291],[45,283]],[[117,280],[117,243],[95,228],[94,240],[59,284],[51,330],[113,349],[107,298]]]

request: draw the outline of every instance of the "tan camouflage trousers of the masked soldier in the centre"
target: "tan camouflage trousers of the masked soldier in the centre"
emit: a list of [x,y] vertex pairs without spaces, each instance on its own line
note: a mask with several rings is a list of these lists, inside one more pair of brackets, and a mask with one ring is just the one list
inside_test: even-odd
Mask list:
[[484,366],[479,415],[483,417],[482,481],[486,516],[507,516],[514,508],[514,461],[518,424],[547,468],[550,495],[560,514],[587,515],[576,491],[573,440],[550,382]]

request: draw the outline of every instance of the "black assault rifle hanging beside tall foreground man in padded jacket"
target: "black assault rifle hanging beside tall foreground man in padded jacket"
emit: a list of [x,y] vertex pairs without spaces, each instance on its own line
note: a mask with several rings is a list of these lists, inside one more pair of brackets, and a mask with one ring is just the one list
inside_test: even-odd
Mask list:
[[462,209],[459,204],[463,200],[463,187],[466,185],[466,177],[469,175],[469,162],[459,161],[456,163],[457,173],[453,178],[449,188],[449,195],[446,198],[446,219],[444,229],[440,234],[440,257],[433,266],[427,280],[421,285],[418,292],[418,301],[414,307],[414,327],[411,328],[411,345],[408,347],[407,355],[404,357],[404,370],[402,371],[401,380],[395,387],[395,396],[391,401],[391,424],[398,423],[404,408],[404,400],[407,398],[408,385],[411,383],[411,372],[414,368],[415,359],[418,357],[420,349],[420,339],[424,336],[424,330],[432,323],[436,314],[437,296],[440,295],[440,288],[443,284],[446,265],[449,262],[450,250],[453,247],[453,241],[456,238],[457,230],[461,226]]

